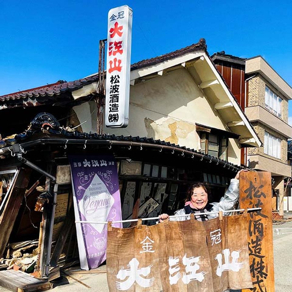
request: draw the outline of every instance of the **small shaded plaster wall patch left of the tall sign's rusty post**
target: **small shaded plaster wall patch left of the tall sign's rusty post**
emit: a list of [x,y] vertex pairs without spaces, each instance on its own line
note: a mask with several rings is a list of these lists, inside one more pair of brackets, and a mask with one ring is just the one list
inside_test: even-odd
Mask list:
[[78,106],[74,106],[73,110],[75,111],[80,123],[86,121],[86,123],[81,125],[83,132],[97,132],[97,108],[94,101],[89,101]]

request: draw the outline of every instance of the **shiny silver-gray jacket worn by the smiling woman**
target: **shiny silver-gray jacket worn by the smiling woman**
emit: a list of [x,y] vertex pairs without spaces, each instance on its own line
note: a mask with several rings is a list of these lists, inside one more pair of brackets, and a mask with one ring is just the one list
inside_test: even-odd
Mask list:
[[[227,211],[227,210],[232,210],[234,209],[239,197],[239,180],[238,179],[231,179],[230,185],[224,195],[220,199],[220,202],[214,202],[210,203],[212,206],[208,212],[218,212],[218,211]],[[175,213],[175,215],[184,215],[186,214],[185,209],[179,209]],[[231,215],[232,213],[224,213],[223,215],[228,216]],[[207,214],[208,220],[216,218],[219,216],[219,214]],[[190,216],[186,217],[172,217],[170,218],[170,221],[184,221],[184,220],[189,220]]]

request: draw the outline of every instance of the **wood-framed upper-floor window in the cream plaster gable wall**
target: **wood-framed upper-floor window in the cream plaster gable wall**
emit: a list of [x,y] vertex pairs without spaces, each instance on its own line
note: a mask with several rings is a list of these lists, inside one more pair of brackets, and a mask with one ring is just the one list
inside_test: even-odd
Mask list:
[[201,152],[227,161],[228,138],[202,132]]

